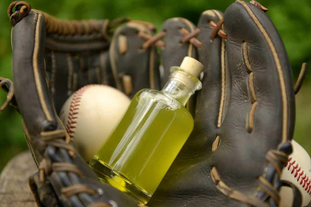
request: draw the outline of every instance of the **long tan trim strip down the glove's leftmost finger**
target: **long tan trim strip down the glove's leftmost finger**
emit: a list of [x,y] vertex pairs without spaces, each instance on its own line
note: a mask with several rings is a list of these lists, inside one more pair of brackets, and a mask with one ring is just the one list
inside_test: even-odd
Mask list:
[[38,14],[38,20],[36,23],[36,32],[35,32],[35,47],[34,47],[34,54],[33,54],[33,70],[34,70],[34,76],[35,76],[35,84],[39,96],[39,100],[41,103],[42,110],[46,116],[46,119],[49,121],[52,121],[52,115],[50,114],[47,104],[45,102],[44,96],[43,96],[43,90],[42,85],[40,82],[40,75],[39,75],[39,66],[38,66],[38,55],[39,55],[39,38],[40,38],[40,20],[42,18],[41,14]]

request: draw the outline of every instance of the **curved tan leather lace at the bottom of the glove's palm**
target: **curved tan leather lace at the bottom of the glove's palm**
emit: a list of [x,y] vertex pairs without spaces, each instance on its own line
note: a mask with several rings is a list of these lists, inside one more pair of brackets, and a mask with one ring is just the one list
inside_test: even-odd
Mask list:
[[229,196],[230,198],[234,200],[238,200],[244,204],[248,204],[254,207],[268,207],[267,204],[265,204],[262,200],[256,198],[247,196],[244,193],[240,191],[236,191],[229,186],[227,186],[221,179],[220,176],[216,170],[216,167],[213,167],[211,170],[211,178],[213,182],[215,183],[217,189],[225,194],[226,196]]

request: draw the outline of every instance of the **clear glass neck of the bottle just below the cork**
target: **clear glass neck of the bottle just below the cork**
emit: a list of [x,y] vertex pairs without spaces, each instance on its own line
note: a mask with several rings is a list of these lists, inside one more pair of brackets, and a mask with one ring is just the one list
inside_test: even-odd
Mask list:
[[202,83],[199,79],[187,73],[182,68],[172,67],[169,80],[161,91],[185,106],[193,93],[201,88]]

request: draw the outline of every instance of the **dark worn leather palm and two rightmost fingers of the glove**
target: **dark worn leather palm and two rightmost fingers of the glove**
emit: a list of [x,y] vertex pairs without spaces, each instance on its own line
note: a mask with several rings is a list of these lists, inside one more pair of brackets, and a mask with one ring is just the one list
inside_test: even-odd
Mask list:
[[[248,11],[259,19],[259,26]],[[212,167],[216,167],[220,179],[231,189],[256,196],[258,177],[268,164],[267,151],[292,138],[295,99],[291,69],[276,28],[260,9],[238,1],[224,14],[228,39],[216,37],[211,42],[212,29],[208,23],[212,20],[217,24],[221,17],[221,12],[215,10],[203,12],[200,17],[198,27],[202,30],[197,38],[202,41],[202,50],[198,52],[205,69],[203,88],[198,92],[195,127],[149,206],[247,206],[220,192],[211,179]],[[271,39],[272,47],[264,34]],[[250,73],[242,57],[244,42],[257,97],[252,132],[246,128],[254,103],[247,86]],[[219,146],[212,152],[217,136]]]

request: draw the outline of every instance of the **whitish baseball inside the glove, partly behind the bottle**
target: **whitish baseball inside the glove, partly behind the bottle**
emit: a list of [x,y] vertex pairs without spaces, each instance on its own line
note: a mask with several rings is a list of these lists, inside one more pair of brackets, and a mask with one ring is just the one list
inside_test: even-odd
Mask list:
[[130,99],[106,85],[86,85],[73,93],[59,114],[79,154],[89,162],[123,117]]

